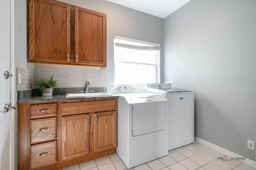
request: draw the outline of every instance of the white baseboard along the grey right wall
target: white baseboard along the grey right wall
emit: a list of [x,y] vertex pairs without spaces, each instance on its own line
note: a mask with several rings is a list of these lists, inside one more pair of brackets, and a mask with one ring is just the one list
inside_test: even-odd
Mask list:
[[[244,157],[244,156],[240,156],[239,154],[236,154],[234,152],[231,152],[229,150],[226,150],[226,149],[224,149],[222,147],[214,145],[214,144],[212,144],[212,143],[210,143],[208,141],[204,141],[203,139],[200,139],[198,137],[194,137],[194,140],[199,142],[199,143],[202,143],[203,145],[205,145],[207,147],[210,147],[210,148],[215,149],[215,150],[217,150],[219,152],[222,152],[222,153],[224,153],[224,154],[226,154],[228,156],[231,156],[231,157]],[[254,168],[256,167],[255,161],[250,160],[248,158],[245,158],[245,159],[246,159],[245,162],[244,162],[245,164],[248,164],[248,165],[250,165],[250,166],[252,166]]]

